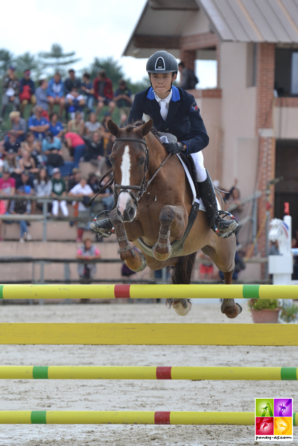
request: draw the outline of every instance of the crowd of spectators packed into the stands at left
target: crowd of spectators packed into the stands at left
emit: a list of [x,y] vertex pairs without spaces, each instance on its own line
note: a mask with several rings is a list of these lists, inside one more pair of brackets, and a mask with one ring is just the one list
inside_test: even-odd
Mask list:
[[[114,91],[105,70],[98,71],[93,81],[88,73],[80,79],[73,69],[64,81],[59,72],[37,83],[30,76],[26,69],[18,80],[15,67],[10,66],[3,79],[1,117],[12,111],[10,130],[2,132],[0,141],[0,195],[8,197],[0,201],[0,213],[30,214],[42,209],[41,202],[28,200],[34,195],[53,198],[49,211],[54,216],[59,210],[69,216],[70,202],[61,199],[68,195],[82,198],[74,202],[75,215],[87,218],[90,211],[84,204],[97,192],[98,178],[110,166],[114,137],[107,123],[117,107],[119,125],[125,124],[131,92],[123,79]],[[93,165],[88,178],[79,170],[82,161]],[[14,199],[15,195],[24,197]],[[104,208],[111,208],[111,189],[102,201]],[[98,203],[91,211],[97,213]],[[3,240],[1,224],[2,220]],[[86,222],[77,224],[77,241],[82,240],[84,229]],[[20,242],[25,239],[31,236],[27,222],[21,220]]]

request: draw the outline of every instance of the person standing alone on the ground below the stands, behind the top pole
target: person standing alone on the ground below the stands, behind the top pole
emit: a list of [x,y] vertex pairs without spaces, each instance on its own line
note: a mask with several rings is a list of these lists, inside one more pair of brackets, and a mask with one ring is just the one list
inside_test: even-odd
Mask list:
[[[102,258],[100,250],[92,245],[92,240],[89,238],[84,239],[83,246],[80,246],[77,250],[77,257],[79,260],[96,260]],[[95,278],[96,264],[84,263],[78,264],[78,273],[80,276],[81,284],[91,283]],[[81,303],[88,303],[88,299],[81,299]]]

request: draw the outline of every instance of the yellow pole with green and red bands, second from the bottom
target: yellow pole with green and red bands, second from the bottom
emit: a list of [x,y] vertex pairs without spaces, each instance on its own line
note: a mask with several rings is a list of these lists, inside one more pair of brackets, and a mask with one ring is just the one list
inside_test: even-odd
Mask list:
[[297,370],[297,367],[2,365],[0,379],[297,381]]

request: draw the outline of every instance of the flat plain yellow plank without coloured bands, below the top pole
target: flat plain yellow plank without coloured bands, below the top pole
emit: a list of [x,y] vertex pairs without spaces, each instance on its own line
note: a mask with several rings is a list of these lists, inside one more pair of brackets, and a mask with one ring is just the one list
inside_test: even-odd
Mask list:
[[298,346],[298,324],[0,323],[13,344]]

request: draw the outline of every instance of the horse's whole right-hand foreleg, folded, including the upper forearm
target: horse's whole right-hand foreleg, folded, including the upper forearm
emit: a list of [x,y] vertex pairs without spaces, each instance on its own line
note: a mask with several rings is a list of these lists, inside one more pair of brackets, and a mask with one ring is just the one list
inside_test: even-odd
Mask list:
[[152,255],[156,260],[167,260],[172,254],[170,234],[180,239],[185,228],[185,215],[182,206],[163,206],[159,214],[160,228],[157,242],[152,246]]

